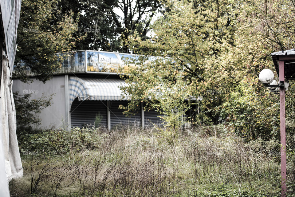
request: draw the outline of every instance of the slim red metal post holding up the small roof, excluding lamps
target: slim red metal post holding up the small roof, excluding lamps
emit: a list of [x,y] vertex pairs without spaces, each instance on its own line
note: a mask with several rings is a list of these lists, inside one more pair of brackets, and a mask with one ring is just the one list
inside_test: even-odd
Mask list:
[[[279,61],[279,78],[285,81],[284,60]],[[285,88],[280,87],[280,126],[281,126],[281,187],[282,197],[286,197],[286,126],[285,126]]]

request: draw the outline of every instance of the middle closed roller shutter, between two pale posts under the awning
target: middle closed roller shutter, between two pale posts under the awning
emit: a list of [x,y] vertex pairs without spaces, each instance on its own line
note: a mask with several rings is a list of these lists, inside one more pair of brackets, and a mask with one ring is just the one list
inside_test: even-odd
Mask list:
[[110,101],[110,109],[111,109],[111,128],[116,125],[140,125],[140,112],[136,111],[132,116],[125,116],[123,114],[124,110],[119,109],[120,105],[127,106],[127,101]]

